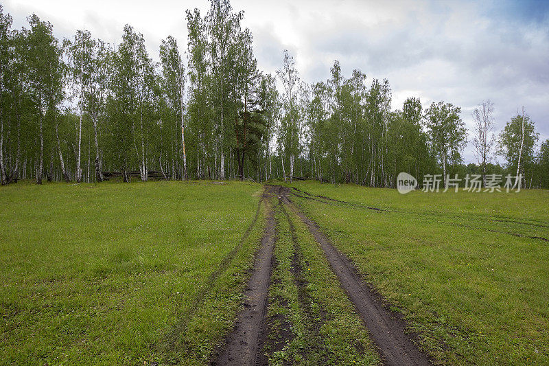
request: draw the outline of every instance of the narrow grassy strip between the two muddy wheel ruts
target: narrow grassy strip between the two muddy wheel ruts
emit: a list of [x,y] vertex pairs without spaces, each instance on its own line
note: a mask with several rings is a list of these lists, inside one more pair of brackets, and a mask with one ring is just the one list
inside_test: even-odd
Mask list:
[[[270,365],[377,365],[364,323],[331,272],[307,227],[286,208],[276,207],[278,226],[268,319],[276,346],[282,328],[292,336],[266,350]],[[292,240],[290,222],[296,242]],[[301,268],[301,271],[296,271]],[[286,334],[287,336],[287,334]],[[280,341],[279,341],[280,343]]]

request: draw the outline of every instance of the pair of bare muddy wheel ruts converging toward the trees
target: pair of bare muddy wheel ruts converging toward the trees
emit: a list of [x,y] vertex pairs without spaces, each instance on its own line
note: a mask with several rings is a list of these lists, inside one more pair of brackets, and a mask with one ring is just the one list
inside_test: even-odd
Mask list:
[[[285,211],[284,206],[290,208],[305,223],[320,248],[323,249],[331,270],[338,277],[342,288],[354,304],[355,310],[364,320],[371,339],[377,346],[382,363],[391,366],[432,365],[430,359],[412,341],[412,336],[406,334],[406,323],[400,319],[398,314],[384,307],[382,298],[364,282],[351,260],[337,251],[330,240],[320,231],[318,225],[305,216],[298,206],[294,205],[290,200],[291,193],[289,188],[267,186],[264,198],[267,194],[276,195],[283,211]],[[244,310],[238,315],[233,331],[227,336],[223,349],[212,365],[244,366],[266,365],[267,363],[263,346],[267,336],[266,312],[274,260],[274,244],[277,240],[277,225],[272,205],[268,199],[264,201],[268,205],[266,231],[261,238],[261,247],[256,253],[255,267],[244,293]],[[290,218],[288,216],[287,218],[291,223]],[[290,225],[290,229],[294,231],[293,225]],[[294,232],[292,232],[292,239],[296,247],[296,255],[299,255],[299,243]],[[299,271],[298,262],[297,257],[292,260],[293,271]],[[303,299],[306,295],[303,293],[300,295],[301,301],[307,302]]]

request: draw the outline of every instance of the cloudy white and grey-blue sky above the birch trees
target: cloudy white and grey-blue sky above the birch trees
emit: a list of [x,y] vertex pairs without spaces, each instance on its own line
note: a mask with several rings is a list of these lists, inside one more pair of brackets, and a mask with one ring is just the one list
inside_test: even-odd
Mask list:
[[[207,0],[2,0],[14,26],[36,13],[59,38],[85,27],[94,37],[119,43],[129,23],[145,36],[152,56],[168,34],[187,41],[185,10],[203,14]],[[482,100],[495,104],[500,130],[524,106],[540,141],[549,138],[549,1],[257,1],[233,0],[254,36],[259,68],[281,67],[282,51],[296,59],[309,82],[329,78],[340,60],[350,76],[387,78],[393,108],[410,96],[423,106],[444,100],[471,112]],[[465,160],[474,161],[469,144]],[[500,159],[501,161],[501,159]]]

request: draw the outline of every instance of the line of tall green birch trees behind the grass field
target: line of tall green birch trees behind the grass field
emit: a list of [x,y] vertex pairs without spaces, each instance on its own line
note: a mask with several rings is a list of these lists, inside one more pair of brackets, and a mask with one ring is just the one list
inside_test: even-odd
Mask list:
[[[228,0],[212,0],[205,16],[187,10],[186,57],[168,36],[154,62],[130,25],[116,46],[84,30],[59,41],[34,14],[12,29],[0,5],[1,183],[133,174],[394,187],[399,172],[421,183],[424,174],[475,171],[549,187],[549,141],[536,150],[528,115],[496,136],[489,101],[468,131],[450,103],[423,108],[408,98],[392,110],[387,80],[366,82],[358,70],[345,78],[338,61],[312,85],[288,52],[276,75],[261,72],[243,16]],[[467,139],[478,165],[463,165]],[[493,165],[496,153],[507,165]]]

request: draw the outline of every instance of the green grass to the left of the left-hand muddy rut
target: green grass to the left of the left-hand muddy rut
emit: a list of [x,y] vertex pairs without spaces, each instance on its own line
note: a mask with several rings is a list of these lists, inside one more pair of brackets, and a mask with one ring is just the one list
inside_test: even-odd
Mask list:
[[264,209],[226,271],[220,263],[252,222],[261,190],[1,187],[0,364],[205,363],[241,304]]

